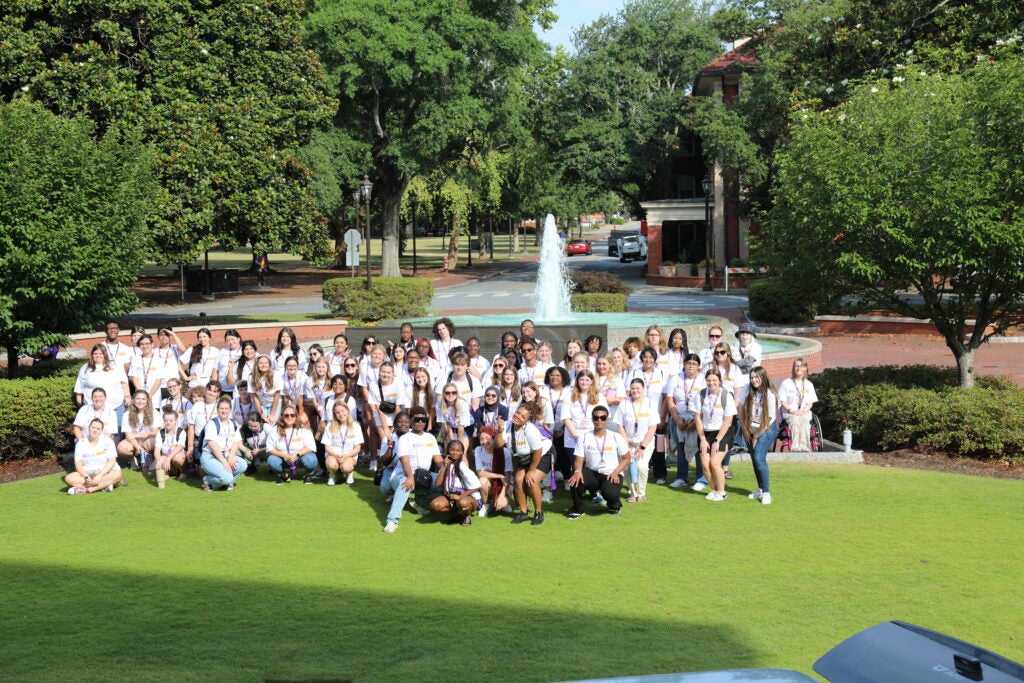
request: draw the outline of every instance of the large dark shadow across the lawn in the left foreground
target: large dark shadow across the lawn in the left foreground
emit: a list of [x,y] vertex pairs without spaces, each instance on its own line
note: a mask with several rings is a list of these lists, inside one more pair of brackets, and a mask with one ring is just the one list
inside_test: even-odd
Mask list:
[[[315,552],[310,550],[310,552]],[[411,558],[396,558],[400,563]],[[130,562],[130,561],[129,561]],[[289,586],[272,578],[217,581],[8,563],[0,616],[3,680],[565,680],[754,666],[727,626],[587,612],[530,602],[496,606],[452,571],[447,595]],[[624,604],[624,612],[628,604]]]

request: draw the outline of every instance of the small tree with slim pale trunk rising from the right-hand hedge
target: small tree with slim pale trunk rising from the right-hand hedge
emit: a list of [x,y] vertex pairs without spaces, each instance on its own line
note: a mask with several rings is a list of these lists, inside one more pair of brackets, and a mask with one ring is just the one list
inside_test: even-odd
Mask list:
[[1024,321],[1024,58],[896,74],[796,114],[766,257],[807,291],[931,319],[970,387],[978,348]]

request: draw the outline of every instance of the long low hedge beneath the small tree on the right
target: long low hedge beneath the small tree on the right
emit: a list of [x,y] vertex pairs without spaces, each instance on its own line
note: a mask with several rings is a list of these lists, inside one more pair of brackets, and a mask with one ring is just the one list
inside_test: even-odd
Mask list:
[[927,449],[1024,462],[1024,388],[1001,377],[957,385],[955,369],[883,366],[812,378],[825,433],[849,427],[866,450]]

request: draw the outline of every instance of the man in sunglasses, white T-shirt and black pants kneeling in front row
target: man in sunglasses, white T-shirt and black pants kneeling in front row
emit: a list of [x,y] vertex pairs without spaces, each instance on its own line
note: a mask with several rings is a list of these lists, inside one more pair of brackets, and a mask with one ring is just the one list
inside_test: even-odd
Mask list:
[[600,492],[607,501],[610,515],[617,515],[623,509],[623,471],[630,464],[630,446],[622,434],[607,429],[607,408],[595,407],[591,419],[594,429],[583,432],[577,441],[575,464],[569,477],[572,509],[565,515],[570,520],[586,514],[584,495],[587,492]]

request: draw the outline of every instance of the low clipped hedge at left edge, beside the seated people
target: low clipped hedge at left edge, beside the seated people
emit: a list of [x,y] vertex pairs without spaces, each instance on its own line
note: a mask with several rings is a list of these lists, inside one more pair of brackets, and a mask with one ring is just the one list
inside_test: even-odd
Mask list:
[[0,463],[70,449],[74,388],[67,376],[0,381]]

